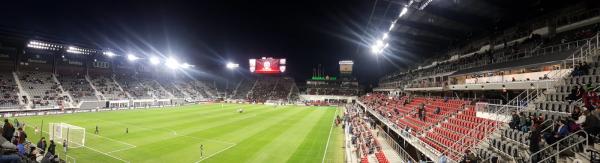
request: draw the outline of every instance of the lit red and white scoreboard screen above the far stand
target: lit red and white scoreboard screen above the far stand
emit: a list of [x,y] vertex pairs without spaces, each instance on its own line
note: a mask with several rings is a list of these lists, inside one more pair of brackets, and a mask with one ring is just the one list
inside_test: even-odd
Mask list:
[[257,74],[280,74],[285,72],[286,60],[267,58],[250,59],[250,72]]

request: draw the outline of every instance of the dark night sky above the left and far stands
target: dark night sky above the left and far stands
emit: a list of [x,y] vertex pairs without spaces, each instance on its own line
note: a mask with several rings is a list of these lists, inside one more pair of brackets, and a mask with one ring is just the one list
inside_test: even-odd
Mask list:
[[[14,3],[14,4],[11,4]],[[18,4],[17,4],[18,3]],[[28,1],[0,6],[0,27],[134,54],[175,55],[218,74],[225,61],[288,59],[301,81],[322,64],[355,61],[364,84],[392,71],[359,46],[373,1]]]

